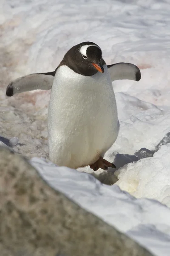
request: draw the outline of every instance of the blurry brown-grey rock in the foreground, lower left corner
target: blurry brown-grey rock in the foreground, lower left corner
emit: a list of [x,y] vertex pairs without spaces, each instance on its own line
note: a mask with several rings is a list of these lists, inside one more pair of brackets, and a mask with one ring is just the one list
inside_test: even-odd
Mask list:
[[1,256],[151,256],[0,147]]

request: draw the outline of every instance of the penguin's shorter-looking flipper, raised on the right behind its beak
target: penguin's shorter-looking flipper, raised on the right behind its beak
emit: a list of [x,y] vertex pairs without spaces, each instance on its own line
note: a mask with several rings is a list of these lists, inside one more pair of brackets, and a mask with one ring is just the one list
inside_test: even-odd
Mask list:
[[139,81],[141,79],[139,67],[134,64],[119,62],[107,65],[107,67],[111,76],[111,81],[124,79]]

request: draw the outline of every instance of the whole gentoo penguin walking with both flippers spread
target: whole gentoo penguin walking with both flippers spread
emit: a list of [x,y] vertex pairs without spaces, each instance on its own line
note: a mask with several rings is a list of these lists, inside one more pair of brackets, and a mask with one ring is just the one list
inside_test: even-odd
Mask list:
[[14,80],[7,96],[29,90],[49,90],[48,147],[58,166],[94,171],[115,167],[103,159],[119,132],[112,81],[139,81],[138,67],[130,63],[106,65],[101,48],[92,42],[77,44],[66,52],[54,72]]

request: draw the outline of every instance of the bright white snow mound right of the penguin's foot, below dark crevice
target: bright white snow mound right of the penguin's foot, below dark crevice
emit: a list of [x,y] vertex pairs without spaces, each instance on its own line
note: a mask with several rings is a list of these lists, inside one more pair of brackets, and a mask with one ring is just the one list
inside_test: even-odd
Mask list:
[[116,171],[117,185],[137,198],[153,198],[170,207],[170,143],[153,157],[128,163]]

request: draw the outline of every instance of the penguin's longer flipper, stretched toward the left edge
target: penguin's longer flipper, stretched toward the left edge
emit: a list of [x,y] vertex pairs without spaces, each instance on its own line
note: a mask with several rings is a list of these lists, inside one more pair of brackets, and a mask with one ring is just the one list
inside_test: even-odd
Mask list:
[[16,93],[23,93],[31,90],[50,90],[53,85],[54,76],[55,71],[22,76],[8,84],[6,88],[6,96],[11,97]]

